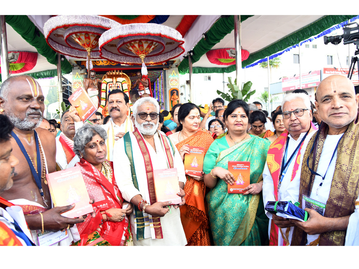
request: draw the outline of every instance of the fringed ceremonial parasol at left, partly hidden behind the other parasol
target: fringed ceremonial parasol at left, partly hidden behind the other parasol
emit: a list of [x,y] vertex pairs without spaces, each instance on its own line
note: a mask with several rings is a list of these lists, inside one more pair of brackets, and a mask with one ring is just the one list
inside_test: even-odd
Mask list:
[[44,25],[46,42],[61,54],[88,59],[99,59],[99,37],[108,29],[121,25],[114,20],[96,15],[59,15]]

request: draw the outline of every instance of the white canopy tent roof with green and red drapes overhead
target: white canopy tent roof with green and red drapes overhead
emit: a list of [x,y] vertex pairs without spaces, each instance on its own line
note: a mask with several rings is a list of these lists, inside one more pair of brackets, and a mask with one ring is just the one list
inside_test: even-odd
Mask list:
[[[242,48],[250,52],[242,66],[283,51],[300,41],[321,33],[332,25],[353,18],[355,15],[242,15]],[[176,28],[183,35],[185,53],[177,57],[180,74],[188,72],[188,58],[183,56],[193,49],[194,73],[232,72],[235,65],[215,65],[208,61],[206,52],[217,48],[234,48],[234,20],[220,15],[109,15],[108,18],[125,23],[157,23]],[[115,18],[116,17],[116,18]],[[43,25],[51,15],[6,15],[8,51],[38,52],[36,66],[22,74],[35,78],[57,75],[57,55],[43,37]],[[116,20],[117,20],[116,19]],[[38,30],[37,30],[38,29]],[[202,34],[206,33],[206,39]],[[62,56],[63,57],[63,56]],[[70,62],[82,58],[62,58],[64,74],[72,70]],[[0,77],[1,80],[1,77]]]

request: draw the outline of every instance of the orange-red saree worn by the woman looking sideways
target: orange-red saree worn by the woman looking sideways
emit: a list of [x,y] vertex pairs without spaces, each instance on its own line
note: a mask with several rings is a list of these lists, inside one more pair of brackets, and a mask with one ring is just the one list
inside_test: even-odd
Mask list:
[[[215,134],[200,128],[195,135],[177,143],[178,150],[188,144],[190,146],[204,147],[206,154],[214,141]],[[210,231],[208,207],[205,202],[206,188],[204,181],[198,181],[187,175],[184,191],[186,204],[180,208],[181,222],[185,231],[187,246],[210,246]]]

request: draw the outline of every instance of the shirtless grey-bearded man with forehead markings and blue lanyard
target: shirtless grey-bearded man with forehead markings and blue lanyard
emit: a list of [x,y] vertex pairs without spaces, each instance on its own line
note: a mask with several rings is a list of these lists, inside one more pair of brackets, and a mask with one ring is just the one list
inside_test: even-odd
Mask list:
[[56,169],[56,146],[55,137],[50,132],[37,128],[45,109],[40,85],[31,76],[10,77],[1,85],[0,108],[15,126],[11,132],[11,146],[14,156],[23,164],[15,167],[13,188],[1,192],[1,195],[23,208],[36,245],[42,242],[44,231],[49,231],[47,236],[57,233],[57,239],[61,241],[54,240],[53,244],[70,245],[73,235],[65,230],[84,220],[61,216],[74,204],[52,208],[45,175]]

